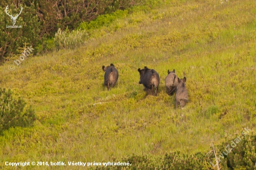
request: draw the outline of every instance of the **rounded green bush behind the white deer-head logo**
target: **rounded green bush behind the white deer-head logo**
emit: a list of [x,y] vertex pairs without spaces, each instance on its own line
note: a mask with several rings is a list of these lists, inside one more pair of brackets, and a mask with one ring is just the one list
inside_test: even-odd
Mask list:
[[[20,13],[20,7],[17,8],[12,3],[0,2],[0,4],[0,61],[4,61],[6,57],[13,56],[13,54],[21,55],[17,50],[19,47],[23,48],[24,43],[33,46],[33,48],[40,44],[40,23],[34,6],[20,5],[23,7]],[[7,5],[9,5],[7,9],[9,14],[20,13],[16,26],[21,26],[21,28],[7,28],[7,26],[13,25],[11,18],[5,13]],[[37,50],[34,49],[32,53],[35,54]]]

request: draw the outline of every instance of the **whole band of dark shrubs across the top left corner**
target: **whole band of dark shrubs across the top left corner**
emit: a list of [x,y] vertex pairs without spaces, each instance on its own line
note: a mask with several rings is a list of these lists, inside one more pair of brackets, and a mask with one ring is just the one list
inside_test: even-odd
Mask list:
[[[118,9],[125,9],[134,5],[141,5],[144,0],[13,0],[0,1],[0,61],[5,61],[13,54],[19,54],[17,49],[23,48],[26,42],[33,46],[34,54],[44,49],[53,48],[54,34],[59,30],[77,28],[82,22],[89,22],[98,15],[112,13]],[[9,5],[9,13],[22,13],[17,18],[17,26],[21,28],[7,28],[12,25],[10,17],[5,13]],[[121,14],[117,13],[117,14]],[[107,19],[105,19],[107,17]],[[103,16],[96,23],[84,23],[83,27],[99,27],[108,24],[115,16]],[[106,23],[107,22],[107,23]],[[47,40],[48,39],[48,40]],[[47,40],[47,41],[45,41]]]

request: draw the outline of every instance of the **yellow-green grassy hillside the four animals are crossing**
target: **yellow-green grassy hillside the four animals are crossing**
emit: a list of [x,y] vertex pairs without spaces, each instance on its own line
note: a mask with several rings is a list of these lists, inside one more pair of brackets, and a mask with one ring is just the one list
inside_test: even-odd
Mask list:
[[[255,30],[254,0],[166,0],[95,29],[79,48],[28,58],[14,71],[12,62],[0,66],[0,87],[20,92],[38,117],[33,127],[0,136],[0,168],[8,168],[5,161],[207,153],[211,139],[218,144],[225,135],[253,129]],[[107,91],[101,67],[110,63],[119,79]],[[145,65],[160,75],[157,97],[138,84],[137,69]],[[166,94],[168,69],[187,77],[183,110]]]

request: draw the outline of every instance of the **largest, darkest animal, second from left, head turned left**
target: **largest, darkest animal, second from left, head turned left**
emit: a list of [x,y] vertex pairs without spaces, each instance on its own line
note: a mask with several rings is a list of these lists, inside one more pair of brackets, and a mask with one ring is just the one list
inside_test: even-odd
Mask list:
[[154,95],[156,96],[158,85],[160,83],[159,74],[154,69],[149,69],[147,66],[145,66],[144,69],[138,68],[138,72],[140,72],[139,84],[143,84],[147,94],[153,94],[155,86]]

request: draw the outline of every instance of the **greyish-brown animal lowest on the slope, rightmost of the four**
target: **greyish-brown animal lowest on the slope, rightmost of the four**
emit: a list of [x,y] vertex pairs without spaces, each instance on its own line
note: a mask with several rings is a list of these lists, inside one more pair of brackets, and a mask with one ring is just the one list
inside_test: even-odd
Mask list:
[[181,107],[184,107],[186,102],[188,102],[188,91],[185,85],[186,82],[186,77],[179,79],[178,78],[178,83],[179,85],[177,86],[177,91],[176,91],[176,96],[175,96],[175,108],[178,107],[178,105],[181,105]]

